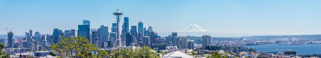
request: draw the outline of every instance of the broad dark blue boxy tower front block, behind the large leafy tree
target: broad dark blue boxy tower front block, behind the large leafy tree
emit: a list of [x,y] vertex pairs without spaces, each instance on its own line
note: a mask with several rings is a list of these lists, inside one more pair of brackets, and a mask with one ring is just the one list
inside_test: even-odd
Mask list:
[[90,26],[78,25],[78,36],[86,37],[88,40],[90,40]]

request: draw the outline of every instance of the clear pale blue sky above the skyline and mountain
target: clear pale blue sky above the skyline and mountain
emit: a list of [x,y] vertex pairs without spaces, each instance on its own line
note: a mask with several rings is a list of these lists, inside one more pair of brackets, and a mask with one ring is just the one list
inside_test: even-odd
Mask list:
[[321,34],[321,0],[0,0],[0,34],[7,27],[15,35],[52,34],[77,29],[84,19],[91,28],[110,28],[117,6],[129,25],[142,20],[160,33],[197,24],[232,34]]

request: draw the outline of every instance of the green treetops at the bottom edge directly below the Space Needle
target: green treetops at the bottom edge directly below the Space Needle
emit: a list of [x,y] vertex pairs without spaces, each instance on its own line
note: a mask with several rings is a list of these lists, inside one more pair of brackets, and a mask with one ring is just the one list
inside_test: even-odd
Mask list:
[[149,47],[140,47],[134,49],[117,49],[111,51],[111,58],[159,58],[157,52],[152,52]]

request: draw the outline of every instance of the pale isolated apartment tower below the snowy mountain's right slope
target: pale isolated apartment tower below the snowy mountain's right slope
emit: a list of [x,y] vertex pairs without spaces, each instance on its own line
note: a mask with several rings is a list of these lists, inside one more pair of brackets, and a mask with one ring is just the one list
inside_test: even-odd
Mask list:
[[210,45],[210,43],[211,43],[211,36],[209,36],[209,35],[202,36],[202,48],[203,49],[208,49],[208,48],[206,48],[206,46]]

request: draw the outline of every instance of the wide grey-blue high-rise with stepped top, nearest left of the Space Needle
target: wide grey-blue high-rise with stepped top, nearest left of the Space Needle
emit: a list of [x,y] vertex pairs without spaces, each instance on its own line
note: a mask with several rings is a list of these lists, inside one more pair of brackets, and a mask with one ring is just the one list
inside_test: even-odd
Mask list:
[[107,42],[109,41],[108,40],[108,37],[109,37],[109,34],[108,34],[108,26],[104,26],[104,25],[101,25],[100,28],[98,29],[98,46],[100,48],[104,48],[104,42]]

